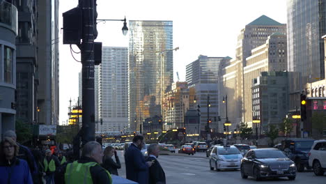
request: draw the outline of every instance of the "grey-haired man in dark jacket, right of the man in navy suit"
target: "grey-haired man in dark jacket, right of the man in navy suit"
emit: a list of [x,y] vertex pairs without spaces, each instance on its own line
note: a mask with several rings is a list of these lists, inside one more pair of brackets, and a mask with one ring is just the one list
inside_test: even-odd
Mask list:
[[157,144],[150,144],[147,148],[148,158],[146,161],[153,162],[149,168],[148,184],[165,184],[165,173],[156,158],[160,155],[160,148]]

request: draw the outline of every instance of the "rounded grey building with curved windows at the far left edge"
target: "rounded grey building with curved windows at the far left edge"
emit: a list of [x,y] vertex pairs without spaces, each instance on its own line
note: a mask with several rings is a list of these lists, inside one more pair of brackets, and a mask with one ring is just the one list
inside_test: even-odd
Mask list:
[[16,36],[17,8],[0,1],[0,135],[15,130]]

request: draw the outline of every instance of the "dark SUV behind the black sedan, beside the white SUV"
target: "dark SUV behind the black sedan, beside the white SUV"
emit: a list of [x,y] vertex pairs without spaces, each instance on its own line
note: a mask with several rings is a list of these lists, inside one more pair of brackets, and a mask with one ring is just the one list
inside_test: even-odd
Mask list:
[[298,172],[304,171],[304,167],[310,169],[308,165],[309,151],[313,145],[313,139],[285,139],[281,143],[281,151],[283,151],[288,158],[295,162]]

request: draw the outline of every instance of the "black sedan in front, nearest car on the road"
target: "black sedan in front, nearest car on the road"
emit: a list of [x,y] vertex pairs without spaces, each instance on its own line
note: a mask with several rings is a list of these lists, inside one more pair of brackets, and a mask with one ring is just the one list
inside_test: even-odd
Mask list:
[[274,148],[253,149],[241,160],[241,176],[252,176],[256,181],[261,178],[288,177],[295,180],[295,163],[282,151]]

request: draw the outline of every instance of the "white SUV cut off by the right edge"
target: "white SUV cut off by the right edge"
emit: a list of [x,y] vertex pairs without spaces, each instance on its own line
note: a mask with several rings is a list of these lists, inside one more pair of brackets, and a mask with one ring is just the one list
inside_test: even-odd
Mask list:
[[323,176],[326,171],[326,140],[314,141],[309,155],[309,167],[316,176]]

